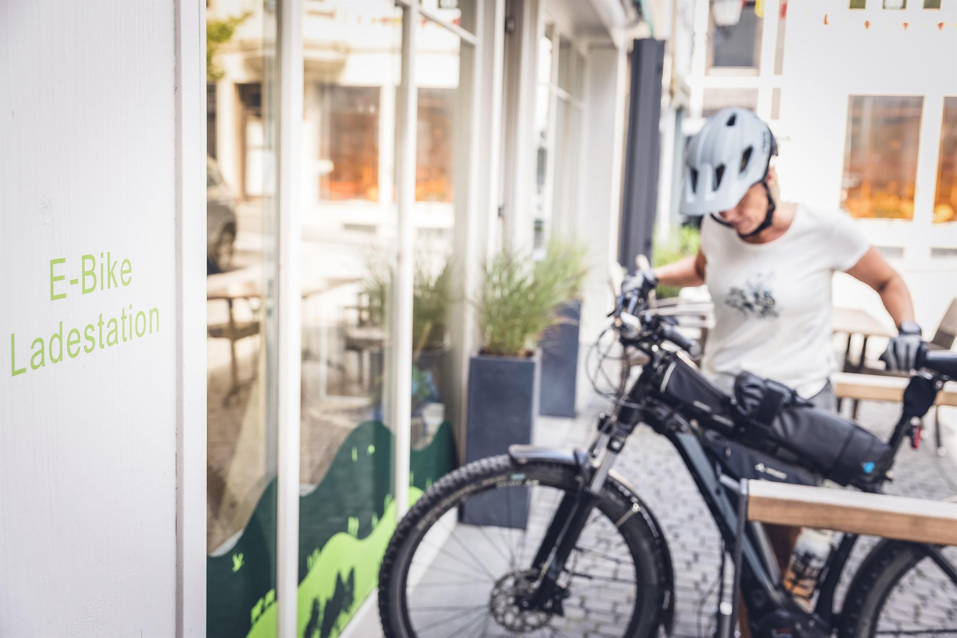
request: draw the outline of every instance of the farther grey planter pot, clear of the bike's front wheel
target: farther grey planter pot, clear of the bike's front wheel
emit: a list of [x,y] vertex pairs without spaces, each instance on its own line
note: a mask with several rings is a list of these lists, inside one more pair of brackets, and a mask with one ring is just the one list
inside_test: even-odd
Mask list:
[[575,416],[578,381],[578,335],[582,302],[568,301],[558,310],[561,322],[549,326],[539,341],[542,349],[542,394],[545,416]]

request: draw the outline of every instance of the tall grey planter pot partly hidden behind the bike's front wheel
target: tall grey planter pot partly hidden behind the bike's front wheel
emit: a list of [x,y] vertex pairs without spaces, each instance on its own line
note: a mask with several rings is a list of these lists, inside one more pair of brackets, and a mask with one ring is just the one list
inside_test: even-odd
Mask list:
[[[538,414],[540,365],[538,356],[472,357],[465,430],[466,463],[503,454],[514,444],[531,443],[532,426]],[[469,525],[524,529],[528,502],[528,488],[492,490],[469,498],[459,517]]]

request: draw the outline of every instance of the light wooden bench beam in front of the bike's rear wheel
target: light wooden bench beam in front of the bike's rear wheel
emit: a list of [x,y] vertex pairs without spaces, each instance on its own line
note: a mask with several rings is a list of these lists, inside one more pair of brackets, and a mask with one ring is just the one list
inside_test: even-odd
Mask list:
[[885,539],[957,545],[957,502],[747,481],[747,518]]

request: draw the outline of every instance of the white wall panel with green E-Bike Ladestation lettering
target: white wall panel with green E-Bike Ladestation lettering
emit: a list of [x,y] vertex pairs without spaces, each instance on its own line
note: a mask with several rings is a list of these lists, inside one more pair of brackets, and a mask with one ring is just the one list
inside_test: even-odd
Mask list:
[[[2,635],[176,631],[173,10],[0,3]],[[119,287],[81,294],[81,255],[99,279],[107,252],[128,285],[120,266]],[[100,347],[100,313],[130,305],[156,309],[153,333]],[[33,369],[59,321],[62,360]]]

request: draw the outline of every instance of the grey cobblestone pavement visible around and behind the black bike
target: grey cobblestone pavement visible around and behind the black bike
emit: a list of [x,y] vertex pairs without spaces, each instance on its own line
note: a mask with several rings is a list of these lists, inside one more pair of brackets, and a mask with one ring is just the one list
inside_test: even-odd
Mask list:
[[[592,403],[589,410],[568,426],[563,445],[580,446],[588,440],[595,415],[604,408],[605,404]],[[857,420],[886,440],[900,416],[899,410],[896,404],[865,402],[860,406]],[[560,424],[555,421],[552,425],[558,427]],[[929,424],[932,419],[927,421]],[[539,438],[543,437],[542,429],[548,423],[539,424]],[[957,466],[950,458],[941,458],[932,450],[932,439],[932,432],[925,429],[921,450],[914,451],[904,445],[894,466],[895,480],[887,486],[888,494],[930,499],[957,495]],[[637,487],[664,527],[675,566],[675,635],[697,638],[701,635],[698,628],[701,598],[716,578],[721,561],[720,539],[714,521],[678,452],[651,429],[635,431],[619,456],[616,468]],[[857,564],[876,541],[861,539],[858,542],[838,589],[838,602]],[[707,610],[713,605],[713,598],[703,605],[706,611],[701,622],[705,627]]]

